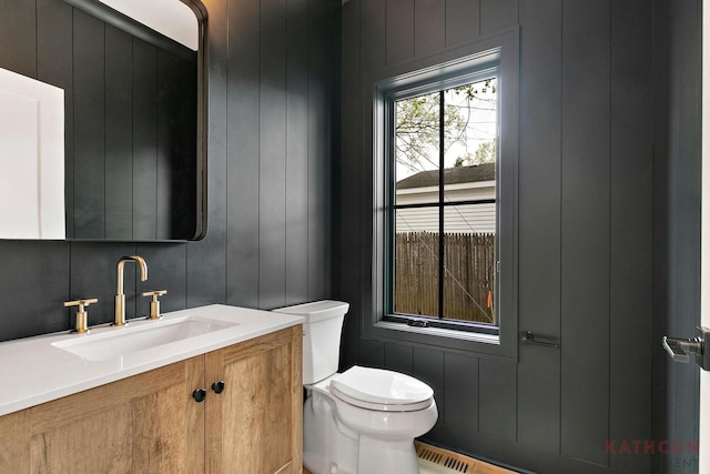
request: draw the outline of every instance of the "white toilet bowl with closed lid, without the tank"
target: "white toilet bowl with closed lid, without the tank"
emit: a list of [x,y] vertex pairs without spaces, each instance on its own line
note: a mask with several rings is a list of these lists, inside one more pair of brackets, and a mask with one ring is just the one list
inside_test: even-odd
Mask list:
[[[392,396],[385,394],[385,381]],[[438,416],[428,385],[355,365],[306,389],[303,451],[311,472],[419,472],[414,438],[428,432]]]

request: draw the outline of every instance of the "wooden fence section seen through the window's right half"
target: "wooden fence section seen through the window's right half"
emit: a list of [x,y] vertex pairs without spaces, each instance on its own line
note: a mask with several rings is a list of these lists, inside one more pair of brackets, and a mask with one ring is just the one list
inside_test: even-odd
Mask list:
[[[467,212],[465,209],[459,211]],[[443,316],[496,324],[496,235],[491,232],[446,232],[444,255]]]

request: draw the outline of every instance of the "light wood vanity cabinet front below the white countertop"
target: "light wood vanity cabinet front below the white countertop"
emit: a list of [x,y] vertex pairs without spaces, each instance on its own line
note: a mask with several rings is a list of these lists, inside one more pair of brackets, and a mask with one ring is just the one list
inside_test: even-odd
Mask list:
[[301,357],[298,325],[0,416],[0,472],[301,473]]

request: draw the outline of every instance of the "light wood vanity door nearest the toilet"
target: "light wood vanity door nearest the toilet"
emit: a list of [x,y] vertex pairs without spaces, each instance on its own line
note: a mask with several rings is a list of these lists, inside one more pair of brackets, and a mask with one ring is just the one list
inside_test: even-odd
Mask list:
[[301,473],[302,327],[206,355],[209,473]]

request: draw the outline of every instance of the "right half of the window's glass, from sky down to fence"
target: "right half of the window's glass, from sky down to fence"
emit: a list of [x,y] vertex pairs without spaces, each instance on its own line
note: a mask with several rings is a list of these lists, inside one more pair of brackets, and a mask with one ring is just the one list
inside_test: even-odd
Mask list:
[[[496,324],[496,78],[444,93],[444,314]],[[479,203],[470,203],[480,201]]]

